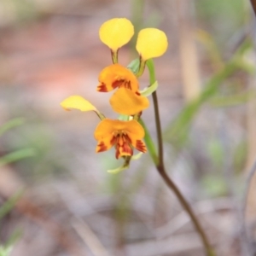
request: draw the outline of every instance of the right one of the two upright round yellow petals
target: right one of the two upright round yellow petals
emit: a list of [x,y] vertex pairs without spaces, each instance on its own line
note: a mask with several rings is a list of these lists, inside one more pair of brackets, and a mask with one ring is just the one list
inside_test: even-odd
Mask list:
[[138,33],[136,49],[143,61],[163,55],[167,46],[165,32],[157,28],[145,28]]

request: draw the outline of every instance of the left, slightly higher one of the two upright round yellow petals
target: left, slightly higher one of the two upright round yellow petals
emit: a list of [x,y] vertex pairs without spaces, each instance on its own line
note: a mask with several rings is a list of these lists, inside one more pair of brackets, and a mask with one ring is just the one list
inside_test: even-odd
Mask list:
[[100,27],[100,39],[113,51],[127,44],[134,34],[134,28],[130,20],[114,18],[108,20]]

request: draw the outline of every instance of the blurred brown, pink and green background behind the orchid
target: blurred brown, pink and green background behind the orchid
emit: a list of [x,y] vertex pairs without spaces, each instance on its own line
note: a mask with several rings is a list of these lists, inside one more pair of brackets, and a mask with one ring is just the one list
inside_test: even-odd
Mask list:
[[[255,20],[246,0],[1,0],[0,255],[204,255],[149,155],[108,174],[121,162],[113,150],[95,154],[96,115],[60,106],[80,95],[116,118],[110,94],[96,92],[111,63],[98,30],[114,17],[136,33],[166,32],[168,50],[154,63],[168,173],[217,255],[255,255]],[[135,43],[119,50],[121,64],[137,57]],[[155,139],[153,107],[143,119]]]

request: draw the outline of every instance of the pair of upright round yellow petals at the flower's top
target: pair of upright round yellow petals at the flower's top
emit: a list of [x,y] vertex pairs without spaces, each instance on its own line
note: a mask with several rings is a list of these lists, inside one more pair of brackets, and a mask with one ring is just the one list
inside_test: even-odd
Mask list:
[[[125,18],[114,18],[104,22],[99,32],[102,42],[113,52],[127,44],[133,34],[133,25]],[[163,55],[167,47],[165,32],[157,28],[145,28],[138,33],[136,49],[143,61]]]

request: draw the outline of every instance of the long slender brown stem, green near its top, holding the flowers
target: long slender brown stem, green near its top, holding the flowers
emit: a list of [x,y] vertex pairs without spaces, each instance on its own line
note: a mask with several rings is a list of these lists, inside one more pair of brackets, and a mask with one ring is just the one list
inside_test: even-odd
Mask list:
[[[150,76],[150,84],[154,84],[155,82],[155,73],[154,73],[154,62],[152,60],[147,61],[149,76]],[[182,204],[184,210],[189,214],[189,217],[191,218],[191,221],[193,222],[195,226],[195,230],[198,232],[199,236],[201,236],[201,240],[204,244],[207,256],[214,256],[215,253],[207,239],[207,235],[204,232],[204,230],[201,228],[201,224],[199,223],[198,219],[195,216],[195,213],[193,212],[192,208],[189,206],[188,201],[185,200],[180,190],[177,188],[176,184],[172,182],[172,179],[167,175],[166,168],[164,164],[164,151],[163,151],[163,140],[162,140],[162,133],[161,133],[161,125],[160,125],[160,113],[159,113],[159,107],[158,107],[158,100],[156,91],[152,94],[153,96],[153,102],[154,102],[154,115],[155,115],[155,124],[156,124],[156,131],[157,131],[157,137],[158,137],[158,164],[155,165],[158,172],[160,173],[160,176],[164,179],[167,186],[172,189],[174,194],[177,196],[177,199]],[[156,163],[154,161],[154,163]]]

